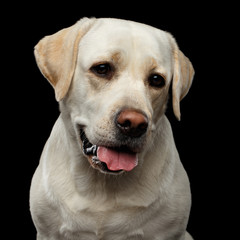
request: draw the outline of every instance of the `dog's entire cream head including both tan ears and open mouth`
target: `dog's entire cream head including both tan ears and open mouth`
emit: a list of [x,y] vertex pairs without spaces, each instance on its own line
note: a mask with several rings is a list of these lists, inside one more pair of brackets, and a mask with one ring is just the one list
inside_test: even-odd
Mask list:
[[138,164],[164,114],[171,80],[173,109],[193,78],[172,36],[117,19],[83,19],[44,38],[35,55],[70,116],[90,164],[120,174]]

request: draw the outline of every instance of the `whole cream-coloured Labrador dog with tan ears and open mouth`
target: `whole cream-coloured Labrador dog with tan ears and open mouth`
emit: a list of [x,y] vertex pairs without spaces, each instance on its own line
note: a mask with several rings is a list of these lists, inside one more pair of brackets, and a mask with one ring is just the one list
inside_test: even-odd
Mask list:
[[38,67],[61,114],[34,174],[38,240],[187,240],[187,174],[164,112],[194,70],[174,38],[119,19],[84,18],[43,38]]

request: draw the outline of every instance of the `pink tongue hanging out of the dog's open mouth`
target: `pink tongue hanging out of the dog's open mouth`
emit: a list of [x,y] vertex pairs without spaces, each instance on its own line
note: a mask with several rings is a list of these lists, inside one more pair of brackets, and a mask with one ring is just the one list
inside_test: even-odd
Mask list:
[[111,171],[131,171],[138,164],[137,154],[118,152],[106,147],[98,147],[97,156]]

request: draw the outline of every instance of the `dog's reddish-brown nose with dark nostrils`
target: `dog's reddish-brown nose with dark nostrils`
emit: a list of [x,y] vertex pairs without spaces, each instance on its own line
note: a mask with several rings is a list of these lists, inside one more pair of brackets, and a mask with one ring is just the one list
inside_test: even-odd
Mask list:
[[117,116],[116,125],[124,135],[140,137],[147,131],[148,119],[136,110],[126,109]]

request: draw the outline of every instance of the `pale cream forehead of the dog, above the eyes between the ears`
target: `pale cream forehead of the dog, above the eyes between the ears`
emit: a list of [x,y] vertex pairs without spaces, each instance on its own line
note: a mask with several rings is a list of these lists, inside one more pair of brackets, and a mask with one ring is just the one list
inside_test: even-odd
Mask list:
[[116,52],[164,62],[170,58],[171,46],[168,34],[157,28],[127,20],[98,19],[80,42],[79,52],[86,64]]

